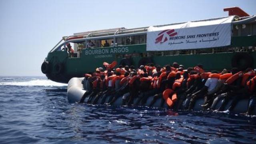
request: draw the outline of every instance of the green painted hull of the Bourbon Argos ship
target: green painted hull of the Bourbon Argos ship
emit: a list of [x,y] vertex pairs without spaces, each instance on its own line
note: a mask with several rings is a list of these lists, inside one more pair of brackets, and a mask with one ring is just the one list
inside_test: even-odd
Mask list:
[[103,62],[111,63],[116,60],[120,64],[125,57],[136,68],[140,64],[151,62],[160,66],[178,62],[185,68],[203,64],[204,69],[209,71],[231,69],[234,66],[241,67],[241,69],[256,68],[255,46],[256,35],[253,35],[233,36],[230,46],[208,48],[203,52],[202,50],[176,51],[174,53],[171,51],[148,52],[146,44],[83,49],[79,58],[70,58],[66,51],[54,51],[49,52],[46,57],[48,68],[44,73],[50,80],[68,83],[72,77],[83,77],[85,73],[93,72],[97,67],[103,67]]

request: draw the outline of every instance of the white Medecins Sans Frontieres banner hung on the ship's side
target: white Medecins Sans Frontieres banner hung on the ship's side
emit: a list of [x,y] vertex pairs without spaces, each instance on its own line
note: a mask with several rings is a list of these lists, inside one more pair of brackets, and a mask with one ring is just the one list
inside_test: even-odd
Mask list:
[[229,46],[233,16],[170,26],[150,26],[147,51],[185,50]]

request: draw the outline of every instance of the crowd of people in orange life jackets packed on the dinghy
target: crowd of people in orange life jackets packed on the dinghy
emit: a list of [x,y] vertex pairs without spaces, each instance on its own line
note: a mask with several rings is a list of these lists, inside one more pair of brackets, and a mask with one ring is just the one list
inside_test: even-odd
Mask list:
[[[192,110],[197,99],[204,98],[202,108],[220,112],[232,112],[242,99],[248,99],[246,115],[253,114],[256,106],[256,72],[238,68],[222,71],[204,70],[202,64],[184,68],[174,62],[163,67],[153,63],[134,66],[103,63],[103,68],[84,74],[86,90],[79,103],[112,105],[122,97],[122,105],[143,106],[153,96],[149,106],[161,100],[173,110]],[[136,102],[134,99],[137,98]],[[221,101],[221,102],[220,102]],[[225,110],[228,102],[231,104]],[[220,105],[217,103],[220,102]]]

